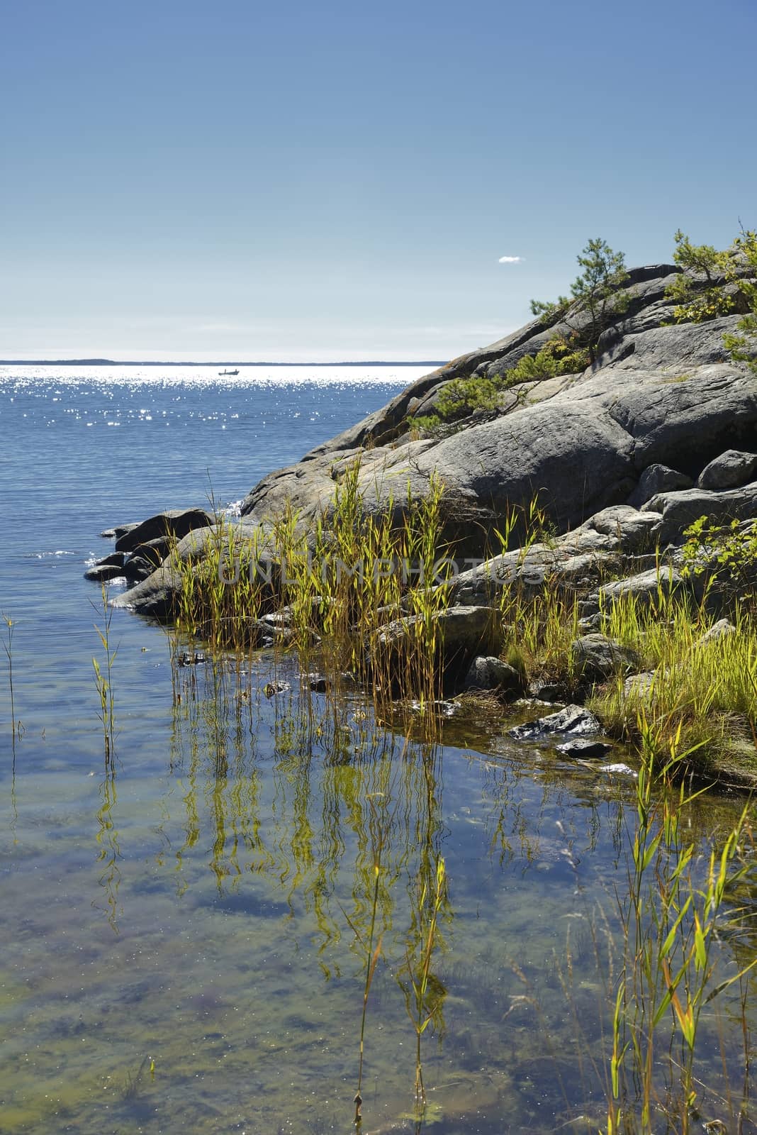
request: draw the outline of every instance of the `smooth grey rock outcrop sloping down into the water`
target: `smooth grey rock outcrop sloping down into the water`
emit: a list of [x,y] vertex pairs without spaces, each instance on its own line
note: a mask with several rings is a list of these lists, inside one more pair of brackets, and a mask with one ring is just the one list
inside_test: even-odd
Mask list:
[[[664,591],[694,603],[706,596],[715,616],[728,615],[732,596],[718,590],[716,571],[706,564],[687,571],[684,532],[704,515],[735,522],[742,532],[757,523],[757,378],[729,361],[723,346],[739,317],[670,326],[665,289],[678,271],[671,264],[631,271],[623,314],[602,335],[593,367],[510,387],[497,409],[457,422],[450,436],[416,436],[412,415],[433,410],[461,375],[508,370],[560,325],[535,320],[422,378],[297,464],[265,477],[245,498],[235,538],[266,546],[284,508],[296,511],[305,532],[318,519],[328,526],[335,488],[356,461],[367,515],[399,518],[439,479],[453,578],[446,609],[435,617],[452,692],[526,691],[512,667],[502,669],[493,614],[503,589],[536,596],[545,580],[578,596],[571,649],[580,680],[573,690],[531,683],[530,693],[564,704],[619,674],[640,680],[632,651],[605,633],[607,606],[623,595],[654,604]],[[535,499],[548,518],[548,538],[499,550],[496,533]],[[517,537],[518,527],[512,531]],[[177,564],[201,562],[222,532],[202,508],[121,526],[103,533],[116,539],[114,553],[87,577],[126,575],[134,586],[116,606],[170,619],[181,586]],[[274,558],[275,549],[269,554]],[[407,613],[386,612],[385,642],[407,625]],[[272,637],[282,629],[280,621]],[[743,781],[755,782],[750,771]]]

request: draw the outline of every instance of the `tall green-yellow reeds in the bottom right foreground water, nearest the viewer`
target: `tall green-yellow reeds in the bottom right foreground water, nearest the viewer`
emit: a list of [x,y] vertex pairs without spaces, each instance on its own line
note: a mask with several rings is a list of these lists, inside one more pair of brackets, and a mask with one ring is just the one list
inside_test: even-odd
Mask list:
[[[660,767],[657,726],[641,715],[638,730],[641,762],[636,822],[628,833],[628,893],[618,896],[623,964],[612,1015],[606,1135],[663,1129],[688,1135],[703,1126],[724,1130],[725,1119],[734,1118],[725,1101],[709,1126],[699,1110],[706,1085],[697,1042],[706,1007],[743,983],[757,964],[755,958],[726,977],[716,964],[729,922],[738,917],[729,897],[751,869],[746,844],[752,842],[752,808],[747,801],[733,829],[717,843],[713,840],[707,859],[699,861],[686,823],[696,793],[687,794],[677,775],[690,754],[675,739]],[[741,1026],[748,1067],[743,998]]]

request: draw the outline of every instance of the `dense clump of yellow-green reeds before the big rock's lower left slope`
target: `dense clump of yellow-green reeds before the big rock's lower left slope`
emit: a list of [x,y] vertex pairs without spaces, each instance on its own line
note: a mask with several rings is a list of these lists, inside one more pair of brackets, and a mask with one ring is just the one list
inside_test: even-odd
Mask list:
[[337,684],[354,675],[384,712],[398,689],[433,703],[441,693],[435,616],[446,606],[442,502],[443,485],[432,477],[423,499],[408,497],[400,508],[390,496],[372,511],[356,463],[309,529],[291,508],[265,536],[243,538],[220,523],[202,556],[169,560],[180,580],[178,629],[239,661],[278,629],[301,669],[315,661]]

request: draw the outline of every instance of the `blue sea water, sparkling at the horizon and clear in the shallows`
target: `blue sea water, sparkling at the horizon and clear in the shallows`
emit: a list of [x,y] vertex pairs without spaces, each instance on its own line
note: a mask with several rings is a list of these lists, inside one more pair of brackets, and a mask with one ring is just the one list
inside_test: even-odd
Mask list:
[[[516,747],[485,720],[446,723],[435,746],[407,740],[358,696],[334,707],[303,690],[286,656],[172,671],[164,632],[118,611],[104,758],[92,669],[103,613],[82,578],[109,550],[96,533],[202,503],[207,470],[215,499],[233,502],[417,373],[0,371],[0,607],[17,621],[24,729],[14,758],[6,674],[2,1135],[349,1130],[364,947],[378,941],[365,1133],[603,1123],[630,777]],[[272,674],[289,689],[267,698]],[[703,851],[742,802],[690,810]],[[440,855],[418,1125],[403,986]],[[754,956],[754,885],[740,901],[725,975]],[[721,1024],[708,1010],[703,1025],[698,1071],[721,1093],[721,1049],[740,1067],[733,1007],[724,995]],[[704,1118],[717,1107],[711,1091]]]

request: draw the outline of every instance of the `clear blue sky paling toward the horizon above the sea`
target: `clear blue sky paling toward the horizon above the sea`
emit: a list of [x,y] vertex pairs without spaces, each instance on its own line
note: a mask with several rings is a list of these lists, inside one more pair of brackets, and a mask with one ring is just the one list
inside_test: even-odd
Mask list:
[[754,0],[0,0],[0,358],[445,359],[588,237],[725,245],[756,42]]

